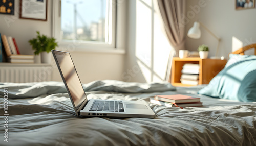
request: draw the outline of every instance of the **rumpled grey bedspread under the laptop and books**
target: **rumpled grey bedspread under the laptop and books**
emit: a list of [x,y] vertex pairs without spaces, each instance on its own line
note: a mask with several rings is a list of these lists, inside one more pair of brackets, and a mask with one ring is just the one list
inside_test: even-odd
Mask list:
[[154,119],[81,118],[62,82],[0,83],[0,145],[256,145],[256,102],[197,94],[204,85],[175,90],[169,83],[104,80],[83,87],[88,99],[149,102],[154,95],[185,94],[200,97],[204,106],[180,109],[148,103]]

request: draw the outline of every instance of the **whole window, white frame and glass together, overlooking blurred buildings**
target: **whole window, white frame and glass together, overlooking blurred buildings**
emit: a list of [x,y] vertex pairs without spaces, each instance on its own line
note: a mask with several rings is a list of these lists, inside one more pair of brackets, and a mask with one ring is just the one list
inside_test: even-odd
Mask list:
[[116,1],[53,1],[53,36],[68,50],[116,48]]

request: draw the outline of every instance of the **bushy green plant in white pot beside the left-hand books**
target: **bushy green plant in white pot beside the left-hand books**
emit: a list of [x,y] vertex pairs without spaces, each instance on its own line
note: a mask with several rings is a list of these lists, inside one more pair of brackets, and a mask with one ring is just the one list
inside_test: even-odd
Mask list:
[[39,56],[39,54],[41,55],[41,63],[50,63],[50,52],[58,46],[56,39],[53,37],[47,37],[46,35],[41,35],[39,31],[36,31],[36,33],[36,38],[33,38],[28,42],[32,45],[32,49],[35,50],[35,56]]

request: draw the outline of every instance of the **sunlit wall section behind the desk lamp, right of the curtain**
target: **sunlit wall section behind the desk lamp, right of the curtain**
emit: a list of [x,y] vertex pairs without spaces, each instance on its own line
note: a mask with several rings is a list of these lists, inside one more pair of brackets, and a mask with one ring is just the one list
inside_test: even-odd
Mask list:
[[[201,5],[201,7],[200,7]],[[235,1],[189,0],[186,4],[186,33],[195,21],[202,22],[221,38],[219,56],[228,54],[244,45],[256,43],[256,8],[236,10]],[[198,46],[209,46],[210,56],[215,56],[217,40],[201,27],[201,38],[186,37],[186,49],[196,51]],[[232,50],[233,49],[233,50]]]

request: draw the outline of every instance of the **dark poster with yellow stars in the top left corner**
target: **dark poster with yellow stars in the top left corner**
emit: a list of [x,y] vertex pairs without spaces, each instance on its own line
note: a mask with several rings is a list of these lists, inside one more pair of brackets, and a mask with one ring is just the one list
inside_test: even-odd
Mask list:
[[14,0],[0,1],[0,14],[14,15]]

